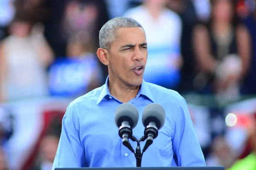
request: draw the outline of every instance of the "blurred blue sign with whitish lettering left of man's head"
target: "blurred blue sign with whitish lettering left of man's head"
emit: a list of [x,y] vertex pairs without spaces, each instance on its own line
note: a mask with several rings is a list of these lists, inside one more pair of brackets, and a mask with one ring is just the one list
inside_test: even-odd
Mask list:
[[99,71],[96,57],[57,59],[49,68],[52,95],[79,96],[87,92],[94,71]]

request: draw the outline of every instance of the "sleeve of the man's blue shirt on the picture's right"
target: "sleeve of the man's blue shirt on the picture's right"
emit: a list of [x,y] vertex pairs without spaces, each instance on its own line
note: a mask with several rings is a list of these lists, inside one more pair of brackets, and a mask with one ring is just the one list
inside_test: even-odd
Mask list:
[[183,97],[180,100],[180,106],[177,108],[173,136],[173,149],[174,154],[177,156],[177,165],[179,167],[206,166],[204,155]]

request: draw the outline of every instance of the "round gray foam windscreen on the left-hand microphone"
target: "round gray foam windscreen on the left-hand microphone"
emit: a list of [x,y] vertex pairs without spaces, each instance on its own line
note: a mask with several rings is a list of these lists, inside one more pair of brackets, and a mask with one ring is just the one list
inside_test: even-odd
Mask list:
[[139,120],[139,112],[131,103],[122,103],[116,108],[115,123],[119,128],[123,121],[128,121],[133,129]]

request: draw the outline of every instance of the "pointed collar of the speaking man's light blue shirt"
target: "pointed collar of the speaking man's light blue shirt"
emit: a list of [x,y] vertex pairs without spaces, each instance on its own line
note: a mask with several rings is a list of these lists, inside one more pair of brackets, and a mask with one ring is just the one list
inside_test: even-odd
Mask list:
[[[102,86],[102,91],[99,94],[99,98],[98,98],[98,101],[97,101],[96,105],[98,105],[102,101],[102,99],[105,98],[105,96],[111,96],[111,94],[109,92],[109,89],[108,89],[108,77],[106,79],[105,84]],[[139,96],[143,95],[146,98],[148,98],[149,100],[151,100],[151,102],[154,102],[154,96],[153,96],[151,90],[149,89],[147,82],[145,82],[144,79],[143,79],[143,82],[141,84],[138,95]]]

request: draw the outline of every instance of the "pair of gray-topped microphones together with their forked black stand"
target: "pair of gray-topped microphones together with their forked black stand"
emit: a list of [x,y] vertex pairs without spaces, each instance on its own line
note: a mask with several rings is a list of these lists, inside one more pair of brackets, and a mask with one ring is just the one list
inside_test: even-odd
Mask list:
[[[161,105],[151,103],[144,108],[142,122],[145,127],[144,136],[138,140],[132,135],[132,129],[137,125],[139,119],[139,112],[137,108],[130,103],[123,103],[116,109],[115,122],[119,127],[119,136],[122,138],[122,144],[134,153],[136,158],[136,166],[141,167],[141,160],[143,153],[153,143],[153,139],[158,136],[158,130],[163,127],[166,113]],[[136,151],[134,151],[131,139],[137,142]],[[146,143],[141,152],[140,142],[146,140]]]

